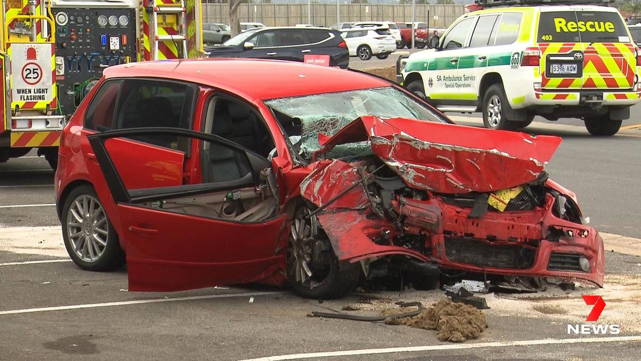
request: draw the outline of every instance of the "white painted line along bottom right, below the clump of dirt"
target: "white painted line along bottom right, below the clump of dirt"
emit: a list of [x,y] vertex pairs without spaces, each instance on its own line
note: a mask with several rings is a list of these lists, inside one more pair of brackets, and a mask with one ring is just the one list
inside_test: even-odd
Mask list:
[[399,352],[417,352],[417,351],[437,351],[446,349],[475,349],[475,348],[504,348],[509,346],[536,346],[536,345],[554,345],[554,344],[589,344],[599,342],[626,342],[641,341],[641,336],[620,336],[620,337],[592,337],[581,339],[547,339],[547,340],[520,340],[504,342],[479,342],[476,344],[447,344],[431,346],[412,346],[401,348],[378,348],[378,349],[354,349],[345,351],[329,352],[311,352],[296,353],[291,355],[268,356],[259,358],[246,358],[239,361],[281,361],[281,360],[300,360],[302,358],[327,358],[354,355],[374,355],[380,353],[399,353]]

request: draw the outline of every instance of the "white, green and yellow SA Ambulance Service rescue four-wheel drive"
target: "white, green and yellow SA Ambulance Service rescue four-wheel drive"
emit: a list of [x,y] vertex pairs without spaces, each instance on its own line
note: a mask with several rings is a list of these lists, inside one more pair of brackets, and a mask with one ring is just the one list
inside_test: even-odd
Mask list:
[[487,128],[538,115],[616,134],[641,96],[640,49],[616,8],[563,3],[575,1],[479,1],[406,59],[404,86],[442,111],[482,112]]

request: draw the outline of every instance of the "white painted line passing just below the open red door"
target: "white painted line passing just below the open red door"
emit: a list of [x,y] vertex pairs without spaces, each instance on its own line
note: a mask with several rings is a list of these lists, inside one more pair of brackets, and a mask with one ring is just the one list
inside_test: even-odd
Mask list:
[[0,311],[0,316],[1,315],[15,315],[15,314],[18,314],[18,313],[51,312],[51,311],[62,311],[62,310],[79,310],[81,308],[128,306],[129,304],[146,304],[146,303],[162,303],[162,302],[177,302],[177,301],[193,301],[193,300],[197,300],[197,299],[249,297],[249,296],[262,296],[262,295],[281,295],[281,294],[286,294],[286,293],[287,292],[244,292],[242,294],[201,295],[201,296],[187,296],[187,297],[173,297],[173,298],[137,299],[137,300],[134,300],[134,301],[119,301],[119,302],[106,302],[106,303],[72,304],[71,306],[23,308],[22,310]]

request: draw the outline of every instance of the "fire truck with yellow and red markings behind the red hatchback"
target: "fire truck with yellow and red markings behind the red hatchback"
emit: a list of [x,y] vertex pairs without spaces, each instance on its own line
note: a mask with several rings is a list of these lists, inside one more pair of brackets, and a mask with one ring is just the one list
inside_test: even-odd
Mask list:
[[201,0],[2,0],[0,163],[60,133],[103,69],[204,55]]

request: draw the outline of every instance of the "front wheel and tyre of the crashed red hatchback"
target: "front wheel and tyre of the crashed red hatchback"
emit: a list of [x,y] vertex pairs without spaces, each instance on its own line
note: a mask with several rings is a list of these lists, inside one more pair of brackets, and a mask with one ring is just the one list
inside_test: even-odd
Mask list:
[[[339,261],[331,248],[329,240],[318,228],[313,235],[312,227],[317,227],[315,216],[306,218],[311,212],[306,205],[299,206],[292,219],[287,249],[287,277],[292,288],[301,297],[310,299],[335,299],[349,294],[362,274],[360,263]],[[312,249],[320,242],[324,265],[312,261]],[[308,272],[307,272],[308,271]]]

